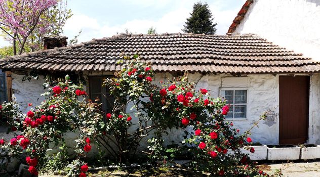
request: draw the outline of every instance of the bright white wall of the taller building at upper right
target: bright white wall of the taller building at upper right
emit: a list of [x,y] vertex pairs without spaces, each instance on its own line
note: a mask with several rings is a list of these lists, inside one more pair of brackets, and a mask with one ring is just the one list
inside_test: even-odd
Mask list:
[[255,33],[320,60],[319,0],[254,0],[234,33]]

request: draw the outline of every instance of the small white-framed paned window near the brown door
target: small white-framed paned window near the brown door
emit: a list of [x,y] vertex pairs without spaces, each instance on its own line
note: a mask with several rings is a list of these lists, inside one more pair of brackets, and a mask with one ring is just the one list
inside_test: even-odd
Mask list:
[[230,104],[226,118],[247,118],[247,90],[221,89],[221,96]]

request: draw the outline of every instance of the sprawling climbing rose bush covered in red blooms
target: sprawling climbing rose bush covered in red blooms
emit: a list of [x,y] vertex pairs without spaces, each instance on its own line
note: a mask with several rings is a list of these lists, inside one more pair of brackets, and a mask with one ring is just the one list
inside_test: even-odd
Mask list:
[[[87,176],[86,156],[93,145],[104,148],[106,158],[126,163],[136,158],[137,152],[143,153],[138,147],[144,139],[149,143],[147,154],[162,160],[163,155],[156,153],[164,147],[163,136],[169,135],[170,129],[190,127],[182,145],[192,155],[194,169],[214,176],[266,175],[240,151],[252,143],[250,131],[241,135],[225,120],[229,107],[223,98],[211,98],[210,91],[197,88],[187,76],[154,84],[152,67],[141,63],[138,55],[125,56],[119,63],[124,68],[103,83],[114,99],[107,112],[87,99],[83,86],[73,84],[68,76],[46,83],[46,100],[38,106],[28,104],[26,114],[15,102],[1,105],[0,115],[7,120],[9,131],[17,134],[10,142],[0,140],[1,147],[12,157],[26,152],[29,172],[37,174],[46,164],[50,145],[64,142],[67,132],[77,132],[75,158],[68,166],[68,175]],[[128,105],[131,114],[126,111]]]

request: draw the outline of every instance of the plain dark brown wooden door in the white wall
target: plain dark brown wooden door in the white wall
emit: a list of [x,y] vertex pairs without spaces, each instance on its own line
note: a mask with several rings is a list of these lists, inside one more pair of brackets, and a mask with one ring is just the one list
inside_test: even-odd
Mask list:
[[309,76],[279,76],[279,144],[308,139]]

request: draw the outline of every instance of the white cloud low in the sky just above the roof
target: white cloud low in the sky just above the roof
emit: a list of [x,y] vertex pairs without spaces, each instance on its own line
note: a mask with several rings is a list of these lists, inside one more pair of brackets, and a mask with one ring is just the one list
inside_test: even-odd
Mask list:
[[[214,21],[218,23],[216,27],[217,34],[225,34],[239,9],[223,10],[224,8],[218,6],[219,4],[223,4],[222,2],[219,3],[220,1],[222,0],[209,5],[215,17]],[[139,3],[142,2],[149,1],[139,1]],[[149,2],[148,6],[153,6],[156,2],[158,1]],[[167,2],[167,0],[165,2]],[[135,19],[113,26],[99,23],[95,18],[86,16],[85,14],[74,13],[74,16],[67,21],[64,31],[65,35],[69,36],[70,39],[77,34],[79,30],[82,30],[82,34],[79,36],[79,42],[88,41],[92,38],[109,37],[116,33],[125,32],[125,29],[133,33],[146,33],[151,26],[156,28],[157,33],[181,32],[184,22],[192,10],[192,4],[193,2],[188,2],[187,5],[180,6],[178,9],[163,15],[158,20]]]

